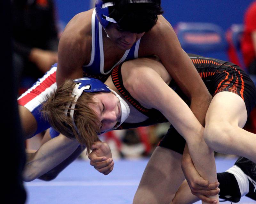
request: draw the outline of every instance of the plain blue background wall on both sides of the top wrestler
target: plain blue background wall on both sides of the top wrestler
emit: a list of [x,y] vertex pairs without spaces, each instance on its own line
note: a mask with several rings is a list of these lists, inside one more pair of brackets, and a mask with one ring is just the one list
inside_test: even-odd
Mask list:
[[[65,23],[77,13],[90,9],[90,0],[55,0],[59,18]],[[175,26],[179,21],[212,22],[223,29],[242,23],[252,0],[162,0],[164,17]]]

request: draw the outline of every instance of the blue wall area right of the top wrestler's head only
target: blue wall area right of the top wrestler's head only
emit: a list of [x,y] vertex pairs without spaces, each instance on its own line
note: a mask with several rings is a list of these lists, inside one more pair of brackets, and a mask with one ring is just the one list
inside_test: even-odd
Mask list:
[[252,0],[164,0],[162,7],[172,25],[179,21],[211,22],[226,30],[233,23],[243,22],[250,3]]

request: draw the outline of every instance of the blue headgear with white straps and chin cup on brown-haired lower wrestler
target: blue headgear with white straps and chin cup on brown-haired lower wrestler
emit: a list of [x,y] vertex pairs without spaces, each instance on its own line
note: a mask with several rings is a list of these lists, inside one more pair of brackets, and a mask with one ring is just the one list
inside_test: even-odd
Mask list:
[[[129,108],[128,104],[124,101],[124,99],[122,99],[115,91],[110,89],[106,84],[104,84],[100,80],[92,79],[92,78],[80,78],[80,79],[74,80],[74,82],[77,82],[77,84],[75,85],[75,87],[71,93],[71,97],[74,97],[74,101],[72,102],[72,104],[71,104],[71,102],[67,104],[67,106],[66,106],[67,109],[65,109],[64,113],[67,116],[68,110],[70,110],[69,114],[72,118],[72,123],[76,129],[76,132],[78,132],[78,129],[77,129],[75,121],[74,121],[74,110],[76,107],[77,99],[82,95],[83,92],[91,92],[91,93],[107,92],[107,93],[109,93],[112,91],[116,95],[116,97],[119,99],[120,107],[121,107],[121,121],[118,125],[113,127],[111,130],[115,130],[116,128],[118,128],[129,116],[130,108]],[[71,107],[70,107],[70,105],[71,105]],[[100,134],[102,134],[102,133],[104,133],[104,132],[101,132]]]

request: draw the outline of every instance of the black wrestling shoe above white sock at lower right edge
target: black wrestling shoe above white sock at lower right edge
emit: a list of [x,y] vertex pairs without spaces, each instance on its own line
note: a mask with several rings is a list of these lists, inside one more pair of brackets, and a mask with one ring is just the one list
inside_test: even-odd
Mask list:
[[235,165],[246,174],[249,180],[249,193],[245,196],[256,200],[256,163],[244,157],[239,157]]

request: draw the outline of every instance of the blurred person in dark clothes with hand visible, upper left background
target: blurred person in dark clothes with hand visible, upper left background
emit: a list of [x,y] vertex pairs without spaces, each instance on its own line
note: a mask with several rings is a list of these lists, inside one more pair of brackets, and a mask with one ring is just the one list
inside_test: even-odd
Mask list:
[[11,2],[13,67],[20,86],[26,89],[58,61],[54,4],[52,0]]

